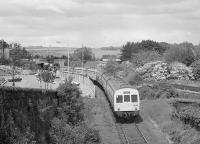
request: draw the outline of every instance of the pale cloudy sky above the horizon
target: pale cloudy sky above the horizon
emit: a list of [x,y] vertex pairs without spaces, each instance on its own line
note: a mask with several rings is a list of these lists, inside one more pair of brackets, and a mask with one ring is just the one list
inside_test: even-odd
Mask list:
[[[0,0],[0,39],[24,46],[200,43],[200,0]],[[60,43],[58,43],[60,42]]]

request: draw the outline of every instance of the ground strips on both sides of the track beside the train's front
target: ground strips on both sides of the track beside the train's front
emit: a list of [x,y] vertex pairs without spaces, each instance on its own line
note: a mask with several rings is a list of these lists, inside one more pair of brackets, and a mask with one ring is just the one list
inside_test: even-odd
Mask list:
[[[120,144],[114,120],[110,115],[110,110],[107,109],[108,103],[105,102],[105,95],[98,87],[96,87],[96,96],[94,99],[84,99],[86,122],[90,127],[99,130],[102,144]],[[146,103],[141,104],[141,109],[144,108],[144,110],[141,111],[142,122],[138,125],[149,144],[169,144],[160,127],[149,118],[148,114],[145,114],[148,108]]]

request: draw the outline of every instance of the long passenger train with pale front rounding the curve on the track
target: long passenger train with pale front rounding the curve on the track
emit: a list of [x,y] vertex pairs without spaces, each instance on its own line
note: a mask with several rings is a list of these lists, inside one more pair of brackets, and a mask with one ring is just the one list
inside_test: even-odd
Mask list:
[[103,87],[116,116],[133,117],[139,114],[140,98],[136,88],[120,79],[113,78],[106,72],[83,68],[75,68],[75,71],[90,77]]

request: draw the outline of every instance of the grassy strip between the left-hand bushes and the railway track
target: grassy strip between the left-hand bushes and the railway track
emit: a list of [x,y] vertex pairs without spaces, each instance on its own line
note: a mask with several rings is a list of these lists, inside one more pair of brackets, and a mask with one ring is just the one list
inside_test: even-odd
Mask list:
[[101,143],[120,144],[115,122],[108,110],[109,105],[103,91],[96,87],[97,98],[84,98],[84,117],[89,127],[97,129],[101,136]]

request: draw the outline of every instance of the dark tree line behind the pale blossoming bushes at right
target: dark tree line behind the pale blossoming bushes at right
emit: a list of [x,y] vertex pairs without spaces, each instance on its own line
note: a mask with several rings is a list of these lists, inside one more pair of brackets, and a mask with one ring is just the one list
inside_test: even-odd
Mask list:
[[170,44],[153,40],[127,42],[122,46],[120,58],[122,61],[131,61],[136,66],[163,59],[167,62],[178,61],[189,66],[200,59],[200,45],[189,42]]

